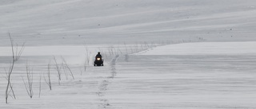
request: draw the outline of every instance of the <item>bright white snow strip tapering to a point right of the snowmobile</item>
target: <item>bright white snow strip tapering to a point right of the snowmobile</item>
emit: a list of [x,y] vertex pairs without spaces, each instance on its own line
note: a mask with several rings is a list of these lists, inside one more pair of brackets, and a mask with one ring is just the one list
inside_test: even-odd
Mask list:
[[256,41],[201,42],[165,45],[139,55],[255,55]]

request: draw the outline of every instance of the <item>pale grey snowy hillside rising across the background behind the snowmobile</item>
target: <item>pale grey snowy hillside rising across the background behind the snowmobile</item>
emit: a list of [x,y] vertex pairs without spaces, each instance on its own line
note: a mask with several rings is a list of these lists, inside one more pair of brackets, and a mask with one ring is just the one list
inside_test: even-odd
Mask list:
[[2,0],[0,4],[1,45],[8,44],[7,33],[27,45],[197,37],[255,41],[254,0]]

